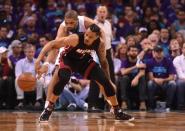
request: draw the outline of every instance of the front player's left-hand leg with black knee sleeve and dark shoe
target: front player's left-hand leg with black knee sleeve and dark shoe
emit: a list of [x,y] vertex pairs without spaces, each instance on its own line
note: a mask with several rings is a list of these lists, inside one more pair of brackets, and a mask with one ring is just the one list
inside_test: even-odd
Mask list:
[[[54,109],[54,103],[58,99],[59,95],[62,93],[64,86],[69,82],[71,76],[71,70],[69,68],[61,68],[56,71],[53,75],[53,78],[57,78],[57,81],[51,81],[48,88],[50,89],[50,96],[47,99],[44,111],[41,113],[39,121],[47,122],[51,113]],[[54,83],[52,83],[54,82]],[[53,90],[52,90],[53,89]]]

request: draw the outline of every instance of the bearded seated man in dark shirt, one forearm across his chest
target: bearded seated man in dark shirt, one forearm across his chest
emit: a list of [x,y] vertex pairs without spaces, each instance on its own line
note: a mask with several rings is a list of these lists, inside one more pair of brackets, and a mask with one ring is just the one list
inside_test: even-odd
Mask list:
[[[145,81],[145,64],[137,63],[139,50],[136,46],[128,47],[128,59],[122,62],[121,77],[118,80],[120,89],[121,106],[127,109],[127,102],[133,98],[133,91],[139,91],[140,110],[146,110],[146,81]],[[137,63],[137,64],[136,64]]]

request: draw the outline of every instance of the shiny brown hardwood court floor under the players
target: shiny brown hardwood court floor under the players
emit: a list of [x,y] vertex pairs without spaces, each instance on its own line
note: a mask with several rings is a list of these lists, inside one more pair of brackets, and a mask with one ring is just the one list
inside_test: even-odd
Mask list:
[[185,131],[185,113],[130,114],[135,121],[115,121],[108,112],[54,112],[48,124],[39,124],[40,113],[0,112],[0,131]]

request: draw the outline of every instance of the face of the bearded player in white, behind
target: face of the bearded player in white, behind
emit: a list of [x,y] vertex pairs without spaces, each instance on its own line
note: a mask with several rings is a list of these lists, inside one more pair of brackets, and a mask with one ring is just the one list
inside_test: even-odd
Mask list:
[[65,25],[68,31],[74,30],[77,27],[78,21],[72,18],[65,18]]

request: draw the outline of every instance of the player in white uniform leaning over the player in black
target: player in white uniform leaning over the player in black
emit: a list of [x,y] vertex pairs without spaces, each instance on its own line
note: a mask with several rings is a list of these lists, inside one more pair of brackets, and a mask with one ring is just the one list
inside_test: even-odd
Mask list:
[[[65,13],[65,17],[64,17],[64,21],[61,23],[58,32],[57,32],[57,36],[55,38],[55,40],[60,39],[61,37],[64,36],[68,36],[70,34],[74,34],[74,33],[80,33],[80,32],[85,32],[87,30],[87,28],[94,24],[94,21],[88,17],[85,16],[78,16],[77,12],[74,10],[70,10],[68,12]],[[101,32],[101,36],[103,36],[104,33]],[[102,38],[104,39],[104,38]],[[62,51],[62,48],[59,49],[52,49],[49,53],[48,53],[48,57],[46,62],[40,67],[39,69],[39,76],[41,74],[47,73],[48,71],[48,65],[49,63],[55,63],[55,73],[58,72],[58,65],[59,65],[59,57],[60,57],[60,53]],[[57,56],[58,55],[58,56]],[[56,57],[57,56],[57,57]],[[57,58],[57,60],[56,60]],[[36,63],[37,65],[39,65],[40,63]],[[52,84],[56,84],[58,80],[58,76],[54,75],[52,77],[52,80],[50,81],[50,83]],[[50,94],[53,92],[53,86],[51,86],[52,84],[49,84],[48,87],[48,91],[47,91],[47,99],[46,99],[46,104],[48,103],[50,98]]]

